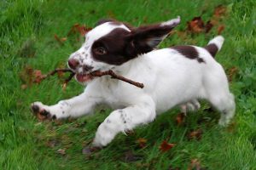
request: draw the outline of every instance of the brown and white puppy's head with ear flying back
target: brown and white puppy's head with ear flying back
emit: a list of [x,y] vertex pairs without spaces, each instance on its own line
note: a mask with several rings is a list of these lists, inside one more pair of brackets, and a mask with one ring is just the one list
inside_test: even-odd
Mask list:
[[152,51],[179,22],[177,17],[160,24],[132,28],[119,21],[100,20],[87,32],[82,47],[70,55],[68,66],[79,82],[89,82],[88,73],[92,71],[107,71]]

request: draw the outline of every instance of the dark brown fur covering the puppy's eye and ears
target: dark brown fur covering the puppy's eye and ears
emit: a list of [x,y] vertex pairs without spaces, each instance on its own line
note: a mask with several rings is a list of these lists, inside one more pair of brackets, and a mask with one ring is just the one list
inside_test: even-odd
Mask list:
[[[131,30],[116,28],[93,43],[91,48],[93,58],[110,65],[122,65],[140,54],[152,51],[178,24],[164,26],[155,24],[134,29],[128,24],[116,20],[100,20],[97,25],[106,22],[116,26],[123,24]],[[98,50],[103,50],[104,53],[96,53]]]

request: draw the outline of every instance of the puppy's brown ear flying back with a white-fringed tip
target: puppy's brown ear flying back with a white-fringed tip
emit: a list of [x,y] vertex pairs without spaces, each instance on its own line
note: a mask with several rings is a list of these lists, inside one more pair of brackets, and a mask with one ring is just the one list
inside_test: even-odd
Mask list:
[[132,55],[144,54],[152,51],[170,31],[180,23],[180,17],[151,26],[141,26],[131,31],[127,37],[129,41],[127,52]]

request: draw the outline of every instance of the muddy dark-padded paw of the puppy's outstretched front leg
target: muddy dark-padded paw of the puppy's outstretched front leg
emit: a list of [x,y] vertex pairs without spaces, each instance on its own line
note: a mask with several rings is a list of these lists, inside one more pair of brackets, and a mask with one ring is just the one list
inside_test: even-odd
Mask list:
[[47,107],[47,105],[43,105],[41,102],[37,101],[32,103],[31,110],[40,121],[55,119],[56,116],[52,115]]

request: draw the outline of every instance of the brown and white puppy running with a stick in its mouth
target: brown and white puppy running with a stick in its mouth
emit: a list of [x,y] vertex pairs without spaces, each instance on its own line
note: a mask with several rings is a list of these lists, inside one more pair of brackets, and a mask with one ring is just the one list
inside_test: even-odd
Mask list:
[[[134,28],[115,20],[100,20],[85,35],[85,42],[70,55],[67,65],[84,93],[56,105],[34,102],[32,111],[48,119],[79,117],[93,112],[96,105],[114,111],[101,123],[92,144],[103,147],[117,133],[125,133],[176,105],[184,111],[199,109],[198,99],[207,99],[221,114],[219,124],[227,125],[235,115],[223,67],[214,59],[224,37],[214,37],[206,47],[174,46],[156,49],[180,23],[177,17],[159,24]],[[108,71],[143,82],[137,88],[111,77],[90,77],[92,71]]]

